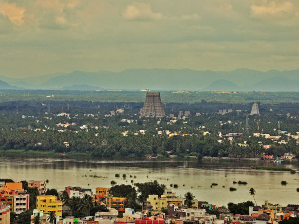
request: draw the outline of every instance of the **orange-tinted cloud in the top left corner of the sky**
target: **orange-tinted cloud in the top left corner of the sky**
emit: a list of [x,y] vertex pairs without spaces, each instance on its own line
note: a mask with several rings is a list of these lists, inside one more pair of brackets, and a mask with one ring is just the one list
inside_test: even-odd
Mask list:
[[24,24],[24,11],[25,8],[17,7],[14,3],[0,1],[0,13],[17,26]]

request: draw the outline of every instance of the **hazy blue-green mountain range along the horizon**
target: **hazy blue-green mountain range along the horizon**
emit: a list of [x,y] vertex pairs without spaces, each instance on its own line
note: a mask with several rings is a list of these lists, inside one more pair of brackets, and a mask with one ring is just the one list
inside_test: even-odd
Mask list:
[[[191,90],[191,91],[299,91],[299,69],[267,72],[196,71],[191,69],[129,69],[121,72],[55,73],[28,78],[0,76],[0,89],[51,90]],[[4,83],[6,83],[4,85]]]

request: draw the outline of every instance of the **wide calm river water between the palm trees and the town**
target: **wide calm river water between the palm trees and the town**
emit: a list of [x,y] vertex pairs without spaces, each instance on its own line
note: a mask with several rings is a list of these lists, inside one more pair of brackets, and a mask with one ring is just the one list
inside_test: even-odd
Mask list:
[[[11,178],[14,181],[48,179],[47,188],[63,190],[64,187],[75,185],[91,188],[94,192],[96,187],[111,187],[112,180],[117,184],[131,184],[131,180],[134,183],[157,180],[168,188],[170,184],[177,184],[178,188],[172,188],[177,195],[183,196],[190,191],[199,201],[207,201],[217,206],[227,205],[229,202],[253,201],[249,189],[254,188],[259,205],[265,200],[283,206],[299,203],[299,192],[296,191],[299,188],[299,165],[284,165],[295,169],[296,174],[251,168],[257,165],[261,164],[219,161],[78,161],[1,157],[0,178]],[[120,174],[120,178],[116,178],[115,174]],[[126,174],[127,178],[122,178],[123,174]],[[90,177],[90,175],[98,177]],[[133,177],[130,178],[130,175]],[[246,181],[248,184],[233,184],[233,181],[239,180]],[[282,180],[287,181],[288,184],[283,186]],[[212,183],[217,183],[218,186],[211,188]],[[237,188],[237,191],[230,192],[229,187]]]

